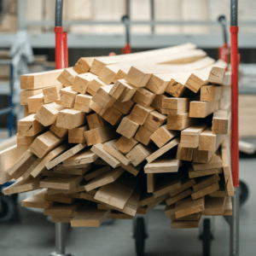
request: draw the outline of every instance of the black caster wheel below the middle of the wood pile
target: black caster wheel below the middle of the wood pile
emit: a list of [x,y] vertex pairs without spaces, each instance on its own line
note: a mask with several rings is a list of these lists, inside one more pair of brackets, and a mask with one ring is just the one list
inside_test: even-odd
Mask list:
[[137,256],[143,256],[147,234],[144,218],[142,217],[136,219],[134,238]]

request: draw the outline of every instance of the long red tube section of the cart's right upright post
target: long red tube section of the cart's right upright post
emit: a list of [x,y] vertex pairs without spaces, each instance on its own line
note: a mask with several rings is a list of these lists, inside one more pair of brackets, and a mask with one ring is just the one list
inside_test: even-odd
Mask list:
[[234,187],[239,187],[239,148],[238,148],[238,26],[230,26],[231,32],[231,165]]

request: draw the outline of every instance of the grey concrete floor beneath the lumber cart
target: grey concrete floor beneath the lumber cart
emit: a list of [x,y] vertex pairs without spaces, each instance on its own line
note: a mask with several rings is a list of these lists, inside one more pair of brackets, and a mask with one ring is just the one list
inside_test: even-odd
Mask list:
[[[241,254],[254,256],[256,249],[256,160],[241,160],[241,180],[250,189],[247,203],[241,208]],[[20,205],[20,202],[19,202]],[[43,214],[19,207],[20,223],[0,224],[1,256],[48,256],[55,250],[55,226]],[[229,255],[229,225],[224,218],[215,218],[212,256]],[[171,230],[163,211],[148,214],[145,256],[202,255],[199,230]],[[72,228],[67,235],[67,252],[75,256],[136,255],[132,221],[117,220],[100,228]]]

